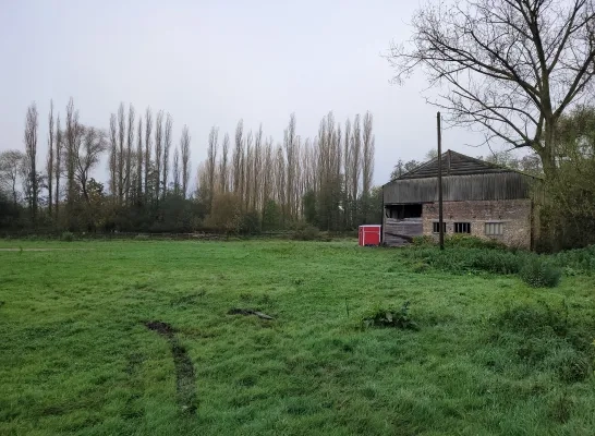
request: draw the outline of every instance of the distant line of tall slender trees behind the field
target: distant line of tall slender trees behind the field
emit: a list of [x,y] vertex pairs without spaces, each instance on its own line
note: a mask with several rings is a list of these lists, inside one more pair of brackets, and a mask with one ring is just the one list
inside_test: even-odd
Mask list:
[[[173,118],[121,104],[107,130],[84,125],[71,99],[47,119],[48,152],[38,165],[39,114],[27,108],[24,152],[0,154],[0,229],[37,231],[258,232],[304,225],[344,231],[380,219],[373,187],[373,116],[343,125],[329,112],[303,138],[291,114],[281,143],[239,121],[214,126],[207,158],[191,183],[191,136],[173,138]],[[107,160],[109,179],[94,171]]]

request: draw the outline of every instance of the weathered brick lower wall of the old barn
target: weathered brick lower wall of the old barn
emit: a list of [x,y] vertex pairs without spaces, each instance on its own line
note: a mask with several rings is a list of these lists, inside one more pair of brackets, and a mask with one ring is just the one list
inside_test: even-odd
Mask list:
[[[495,239],[510,246],[531,249],[531,199],[444,202],[446,234],[454,234],[454,222],[470,222],[471,234]],[[438,221],[438,203],[426,203],[423,209],[424,234],[433,235]],[[487,237],[486,222],[502,222],[501,237]]]

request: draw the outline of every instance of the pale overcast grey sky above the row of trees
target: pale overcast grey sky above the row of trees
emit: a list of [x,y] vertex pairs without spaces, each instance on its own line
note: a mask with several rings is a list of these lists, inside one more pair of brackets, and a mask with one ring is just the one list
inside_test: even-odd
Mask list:
[[[239,119],[282,140],[291,112],[313,137],[329,110],[341,123],[371,110],[375,183],[399,157],[421,159],[436,144],[436,108],[420,74],[391,85],[381,53],[405,40],[417,1],[59,1],[0,0],[0,150],[23,149],[27,106],[40,113],[46,157],[53,98],[64,113],[74,98],[85,124],[107,128],[120,101],[173,117],[174,144],[187,124],[193,167],[206,156],[211,125],[233,133]],[[486,149],[464,130],[444,134],[445,148]],[[97,171],[106,181],[105,168]],[[194,174],[193,174],[194,178]]]

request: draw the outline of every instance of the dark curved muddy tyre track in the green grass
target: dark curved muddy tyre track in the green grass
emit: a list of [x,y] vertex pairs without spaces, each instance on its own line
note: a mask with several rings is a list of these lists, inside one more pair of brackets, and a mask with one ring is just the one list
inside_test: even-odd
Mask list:
[[145,323],[145,327],[156,331],[166,338],[171,348],[173,365],[175,368],[175,393],[182,412],[187,414],[196,413],[198,399],[196,398],[196,379],[194,377],[194,365],[190,360],[184,346],[175,337],[175,329],[168,323],[153,320]]

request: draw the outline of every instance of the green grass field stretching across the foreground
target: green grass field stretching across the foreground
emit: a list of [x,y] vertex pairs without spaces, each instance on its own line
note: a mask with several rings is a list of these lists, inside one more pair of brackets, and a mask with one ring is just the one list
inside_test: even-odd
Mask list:
[[[532,289],[351,241],[8,247],[2,435],[595,434],[593,276]],[[405,301],[418,330],[362,327]]]

